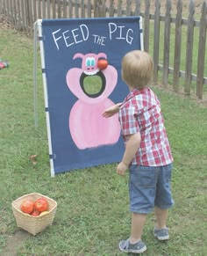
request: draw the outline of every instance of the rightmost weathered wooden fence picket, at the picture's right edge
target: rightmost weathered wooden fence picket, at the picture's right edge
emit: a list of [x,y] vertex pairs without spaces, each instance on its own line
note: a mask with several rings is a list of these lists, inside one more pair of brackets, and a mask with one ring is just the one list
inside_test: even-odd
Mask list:
[[207,26],[207,3],[203,2],[202,16],[200,20],[199,47],[197,55],[197,78],[196,78],[196,96],[203,99],[203,75],[206,43],[206,26]]

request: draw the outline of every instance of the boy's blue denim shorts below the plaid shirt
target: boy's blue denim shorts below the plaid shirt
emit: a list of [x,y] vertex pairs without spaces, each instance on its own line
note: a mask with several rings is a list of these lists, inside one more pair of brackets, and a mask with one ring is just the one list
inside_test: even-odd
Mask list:
[[150,213],[154,206],[171,208],[172,164],[165,166],[131,165],[129,173],[130,210],[135,213]]

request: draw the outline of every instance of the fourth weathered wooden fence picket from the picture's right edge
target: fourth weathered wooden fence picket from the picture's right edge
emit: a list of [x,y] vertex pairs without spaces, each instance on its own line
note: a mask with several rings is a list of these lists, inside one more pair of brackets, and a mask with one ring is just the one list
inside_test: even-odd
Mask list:
[[165,33],[164,33],[164,60],[162,84],[168,85],[168,67],[169,67],[169,46],[170,46],[170,19],[171,19],[171,1],[167,0],[165,14]]

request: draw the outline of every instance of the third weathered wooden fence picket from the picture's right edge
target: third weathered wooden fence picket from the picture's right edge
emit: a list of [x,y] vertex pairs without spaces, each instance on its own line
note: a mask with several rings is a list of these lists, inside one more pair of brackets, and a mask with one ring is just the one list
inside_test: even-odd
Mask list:
[[182,0],[177,2],[177,15],[175,20],[175,54],[174,54],[174,79],[173,87],[179,90],[179,77],[181,66],[181,44],[182,44]]

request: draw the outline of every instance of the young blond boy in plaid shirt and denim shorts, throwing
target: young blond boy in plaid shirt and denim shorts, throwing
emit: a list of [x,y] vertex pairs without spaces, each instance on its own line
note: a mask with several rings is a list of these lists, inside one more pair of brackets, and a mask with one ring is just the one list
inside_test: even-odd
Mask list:
[[174,205],[170,179],[173,157],[161,114],[161,105],[148,87],[153,77],[153,60],[144,51],[134,50],[122,60],[122,79],[130,93],[123,103],[111,106],[103,117],[118,113],[125,141],[125,153],[117,166],[119,175],[129,169],[131,237],[119,243],[122,252],[146,251],[141,240],[146,215],[153,211],[156,223],[153,235],[169,238],[168,208]]

